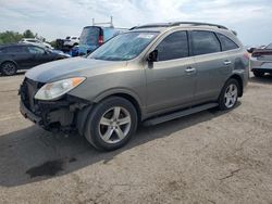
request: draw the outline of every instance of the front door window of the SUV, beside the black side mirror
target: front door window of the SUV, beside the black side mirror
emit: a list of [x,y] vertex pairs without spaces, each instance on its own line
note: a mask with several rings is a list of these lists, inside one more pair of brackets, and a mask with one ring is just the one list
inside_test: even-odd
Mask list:
[[182,59],[189,55],[186,31],[176,31],[165,37],[157,47],[158,61]]

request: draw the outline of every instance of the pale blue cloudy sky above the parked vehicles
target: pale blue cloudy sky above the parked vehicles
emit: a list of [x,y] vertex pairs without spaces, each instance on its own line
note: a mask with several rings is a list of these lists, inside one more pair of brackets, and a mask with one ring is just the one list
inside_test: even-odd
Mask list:
[[0,31],[32,29],[48,41],[79,36],[84,26],[115,27],[197,21],[224,25],[246,46],[272,42],[272,0],[0,0]]

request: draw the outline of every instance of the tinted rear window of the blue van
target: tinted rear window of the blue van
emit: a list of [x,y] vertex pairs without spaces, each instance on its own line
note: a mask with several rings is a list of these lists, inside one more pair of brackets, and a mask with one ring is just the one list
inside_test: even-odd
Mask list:
[[81,35],[81,44],[98,46],[99,27],[85,27]]

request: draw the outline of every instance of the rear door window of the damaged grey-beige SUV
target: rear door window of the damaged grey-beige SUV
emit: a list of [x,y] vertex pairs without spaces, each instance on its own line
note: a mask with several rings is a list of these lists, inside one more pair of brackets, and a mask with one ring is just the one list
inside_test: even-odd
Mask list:
[[220,52],[220,42],[212,31],[191,31],[191,47],[194,55]]

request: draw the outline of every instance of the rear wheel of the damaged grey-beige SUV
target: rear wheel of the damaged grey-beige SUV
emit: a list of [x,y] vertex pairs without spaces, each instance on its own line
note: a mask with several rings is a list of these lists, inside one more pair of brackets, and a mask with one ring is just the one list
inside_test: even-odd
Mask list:
[[226,81],[219,97],[219,107],[221,111],[233,109],[238,100],[240,86],[238,81],[231,78]]

